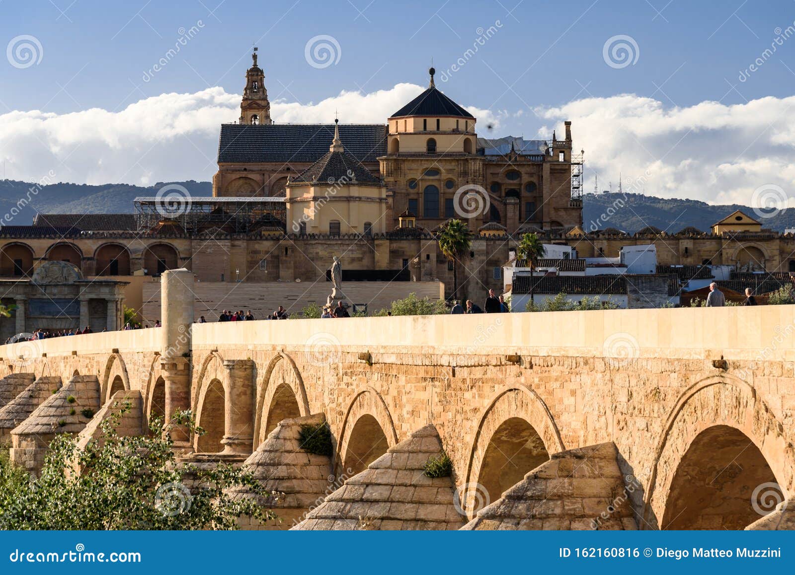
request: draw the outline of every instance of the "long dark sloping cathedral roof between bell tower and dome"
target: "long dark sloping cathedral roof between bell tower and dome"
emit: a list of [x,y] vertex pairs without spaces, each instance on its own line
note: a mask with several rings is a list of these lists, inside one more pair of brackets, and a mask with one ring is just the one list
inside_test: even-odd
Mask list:
[[[339,124],[339,137],[360,162],[386,154],[386,124]],[[315,162],[333,138],[334,124],[223,124],[218,161]]]

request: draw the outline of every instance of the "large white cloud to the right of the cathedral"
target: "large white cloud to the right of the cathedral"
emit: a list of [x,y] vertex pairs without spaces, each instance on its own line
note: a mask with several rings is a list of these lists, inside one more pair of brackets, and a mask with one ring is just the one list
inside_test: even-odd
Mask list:
[[574,145],[585,150],[587,191],[593,170],[601,189],[612,180],[614,190],[622,172],[625,191],[627,178],[648,171],[648,195],[748,204],[754,189],[772,183],[795,196],[795,97],[666,107],[625,94],[536,111],[559,134],[563,120],[572,121]]

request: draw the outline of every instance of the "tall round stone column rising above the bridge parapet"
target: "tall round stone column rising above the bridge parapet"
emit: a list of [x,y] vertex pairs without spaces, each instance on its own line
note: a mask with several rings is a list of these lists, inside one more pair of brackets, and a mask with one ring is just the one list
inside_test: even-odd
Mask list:
[[[185,268],[161,276],[161,368],[165,380],[165,415],[191,408],[191,330],[193,326],[193,272]],[[190,433],[173,426],[174,446],[190,450]]]

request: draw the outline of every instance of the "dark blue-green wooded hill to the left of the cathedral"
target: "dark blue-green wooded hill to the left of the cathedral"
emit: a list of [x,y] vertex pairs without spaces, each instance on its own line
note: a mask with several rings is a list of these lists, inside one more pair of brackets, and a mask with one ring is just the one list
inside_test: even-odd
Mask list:
[[[166,183],[184,186],[191,195],[212,195],[210,182],[158,182],[153,186],[106,183],[90,186],[79,183],[52,183],[40,188],[35,183],[0,180],[0,222],[3,226],[29,226],[37,212],[43,214],[130,214],[139,195],[157,195]],[[29,203],[28,203],[29,200]],[[12,211],[12,208],[15,208]],[[17,213],[18,210],[18,213]]]

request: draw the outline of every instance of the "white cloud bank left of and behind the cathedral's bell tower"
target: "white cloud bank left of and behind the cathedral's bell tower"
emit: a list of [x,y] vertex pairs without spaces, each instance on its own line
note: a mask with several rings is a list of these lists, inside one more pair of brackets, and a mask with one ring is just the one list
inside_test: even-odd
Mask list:
[[[425,88],[399,83],[389,90],[343,91],[317,103],[271,104],[277,122],[386,123],[386,118]],[[0,159],[6,176],[55,181],[138,183],[211,179],[217,166],[219,125],[235,122],[240,96],[214,87],[196,94],[163,94],[112,112],[94,108],[71,114],[39,110],[0,115]],[[467,108],[483,124],[499,125],[502,113]]]

